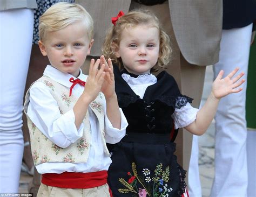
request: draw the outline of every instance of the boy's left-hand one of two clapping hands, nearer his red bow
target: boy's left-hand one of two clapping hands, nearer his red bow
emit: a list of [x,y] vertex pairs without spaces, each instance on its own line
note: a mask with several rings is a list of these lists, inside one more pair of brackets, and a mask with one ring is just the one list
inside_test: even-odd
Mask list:
[[90,68],[89,68],[89,76],[86,80],[84,86],[83,94],[86,95],[86,98],[89,102],[95,100],[98,96],[100,89],[102,89],[102,84],[105,78],[104,68],[105,65],[100,65],[100,69],[98,70],[98,66],[100,64],[100,60],[97,59],[95,62],[94,59],[91,60]]

